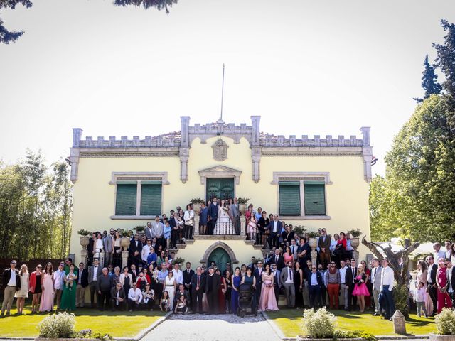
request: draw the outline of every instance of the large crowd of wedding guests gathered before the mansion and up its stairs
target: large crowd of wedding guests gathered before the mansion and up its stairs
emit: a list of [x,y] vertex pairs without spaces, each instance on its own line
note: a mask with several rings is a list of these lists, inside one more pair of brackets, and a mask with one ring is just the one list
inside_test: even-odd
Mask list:
[[[232,205],[236,205],[235,200]],[[188,205],[183,212],[182,239],[192,238],[193,226],[186,219],[193,220],[191,211]],[[341,232],[332,237],[326,229],[320,229],[316,237],[317,262],[312,264],[308,236],[294,233],[278,215],[267,217],[266,212],[258,212],[250,205],[245,228],[253,215],[260,215],[257,222],[264,230],[258,227],[250,238],[264,245],[264,259],[252,257],[250,264],[235,268],[229,263],[212,262],[196,269],[189,262],[178,264],[168,247],[179,242],[181,236],[180,232],[172,234],[172,229],[166,234],[163,227],[170,225],[166,215],[156,216],[143,234],[132,236],[129,266],[123,269],[117,256],[119,231],[114,229],[92,235],[87,268],[83,263],[75,266],[68,258],[58,264],[58,269],[54,270],[49,262],[29,273],[25,264],[16,269],[16,261],[11,261],[3,274],[0,316],[5,312],[9,315],[15,297],[21,315],[29,294],[32,313],[52,311],[55,305],[60,310],[75,310],[85,307],[86,292],[90,292],[90,306],[100,310],[237,313],[240,284],[249,283],[251,305],[257,310],[277,310],[279,294],[284,293],[287,308],[326,306],[361,313],[373,309],[373,315],[391,320],[395,312],[395,276],[387,259],[356,264],[349,234]],[[171,212],[177,222],[180,215],[179,210]],[[418,262],[417,277],[410,286],[410,304],[415,302],[419,315],[434,315],[454,305],[455,243],[446,242],[445,247],[447,251],[442,251],[441,244],[435,243],[434,254]]]

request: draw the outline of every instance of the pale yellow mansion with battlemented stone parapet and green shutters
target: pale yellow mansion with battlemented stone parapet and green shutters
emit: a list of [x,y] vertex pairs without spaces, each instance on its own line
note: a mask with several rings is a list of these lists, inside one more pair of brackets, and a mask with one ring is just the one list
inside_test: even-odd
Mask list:
[[[80,229],[134,229],[177,206],[184,209],[193,197],[213,195],[250,198],[255,208],[309,231],[361,229],[369,237],[370,128],[360,128],[360,139],[288,138],[261,133],[260,119],[252,116],[250,125],[220,120],[192,126],[190,117],[181,117],[181,131],[144,139],[82,139],[82,129],[73,129],[75,261],[81,260]],[[233,266],[263,256],[243,233],[207,236],[196,230],[194,240],[176,250],[193,269],[216,252]],[[366,249],[359,251],[365,256]]]

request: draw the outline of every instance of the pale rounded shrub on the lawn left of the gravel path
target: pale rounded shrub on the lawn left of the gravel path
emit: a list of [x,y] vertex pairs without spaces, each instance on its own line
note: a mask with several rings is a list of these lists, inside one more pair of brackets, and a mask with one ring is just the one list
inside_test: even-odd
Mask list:
[[75,319],[73,314],[61,313],[50,315],[38,323],[40,337],[50,339],[74,337]]

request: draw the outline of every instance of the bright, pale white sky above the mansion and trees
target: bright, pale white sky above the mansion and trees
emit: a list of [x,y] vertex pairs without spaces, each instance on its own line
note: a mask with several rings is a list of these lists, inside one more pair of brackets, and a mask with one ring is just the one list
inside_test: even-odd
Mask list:
[[270,134],[360,136],[375,173],[422,95],[425,54],[453,1],[180,0],[171,13],[101,0],[38,0],[1,11],[26,33],[0,45],[0,160],[48,161],[84,136],[163,134],[220,114]]

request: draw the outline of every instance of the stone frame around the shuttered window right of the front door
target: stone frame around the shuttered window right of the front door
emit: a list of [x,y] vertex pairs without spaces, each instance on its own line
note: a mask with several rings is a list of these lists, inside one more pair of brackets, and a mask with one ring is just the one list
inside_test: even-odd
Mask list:
[[[326,215],[305,215],[304,181],[324,181],[324,200],[326,201]],[[300,212],[301,215],[284,215],[283,220],[331,220],[327,214],[327,185],[333,185],[330,172],[273,172],[272,185],[277,186],[277,212],[279,212],[279,181],[299,181],[300,183]]]

